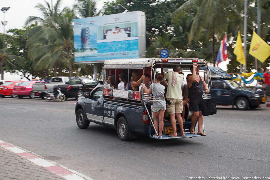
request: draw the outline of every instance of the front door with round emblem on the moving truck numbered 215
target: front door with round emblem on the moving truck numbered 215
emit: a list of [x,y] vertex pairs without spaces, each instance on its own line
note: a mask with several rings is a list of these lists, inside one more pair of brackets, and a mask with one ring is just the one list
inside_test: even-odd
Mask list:
[[96,88],[92,93],[90,99],[87,99],[85,103],[87,119],[91,119],[97,122],[103,122],[102,110],[102,88]]

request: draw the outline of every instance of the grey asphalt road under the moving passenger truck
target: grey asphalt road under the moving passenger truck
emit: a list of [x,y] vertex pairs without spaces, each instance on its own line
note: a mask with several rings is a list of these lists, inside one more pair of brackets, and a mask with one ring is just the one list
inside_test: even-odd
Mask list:
[[270,108],[220,107],[204,117],[205,137],[128,142],[116,130],[76,125],[75,99],[0,98],[0,140],[94,180],[269,177]]

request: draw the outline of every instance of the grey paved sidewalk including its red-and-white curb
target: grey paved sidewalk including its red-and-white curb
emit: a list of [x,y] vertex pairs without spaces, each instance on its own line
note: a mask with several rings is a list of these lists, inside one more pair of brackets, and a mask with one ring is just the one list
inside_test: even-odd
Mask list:
[[32,153],[0,140],[1,180],[85,180]]

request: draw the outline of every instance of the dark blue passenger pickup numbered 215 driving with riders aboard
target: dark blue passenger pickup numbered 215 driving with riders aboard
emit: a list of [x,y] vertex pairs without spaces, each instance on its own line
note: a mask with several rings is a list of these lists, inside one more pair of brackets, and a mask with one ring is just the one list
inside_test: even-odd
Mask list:
[[[100,76],[103,82],[111,74],[114,74],[117,80],[120,73],[126,73],[128,79],[130,79],[132,71],[136,69],[140,74],[151,74],[152,82],[155,82],[155,74],[158,70],[160,71],[161,65],[166,65],[165,71],[167,72],[172,71],[176,64],[181,64],[183,71],[189,71],[194,62],[199,64],[199,67],[207,67],[207,63],[203,59],[106,60]],[[156,130],[153,127],[151,105],[145,102],[145,100],[149,100],[148,96],[149,94],[145,95],[140,91],[110,89],[104,88],[102,84],[97,85],[93,91],[86,92],[84,97],[77,99],[75,106],[76,123],[82,129],[88,128],[90,122],[114,128],[117,130],[120,140],[124,141],[137,137],[137,134],[149,134],[153,138]],[[191,117],[192,112],[189,113],[187,110],[184,122],[184,130],[186,131],[190,129]],[[178,123],[176,125],[179,126]],[[185,137],[168,137],[167,134],[172,132],[170,118],[165,119],[164,135],[159,140],[201,136],[188,132],[185,133]]]

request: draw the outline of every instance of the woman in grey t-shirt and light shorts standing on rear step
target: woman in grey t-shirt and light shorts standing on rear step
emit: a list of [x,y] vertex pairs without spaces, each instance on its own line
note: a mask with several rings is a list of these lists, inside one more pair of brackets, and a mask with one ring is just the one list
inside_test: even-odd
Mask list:
[[[154,118],[154,126],[156,131],[158,132],[158,113],[159,113],[159,133],[153,135],[153,137],[162,138],[162,131],[163,131],[163,118],[164,113],[166,110],[166,102],[164,98],[165,93],[165,87],[164,85],[161,85],[160,82],[162,82],[162,76],[160,73],[156,75],[155,78],[155,88],[153,88],[153,83],[150,85],[150,89],[146,89],[146,85],[142,83],[142,88],[144,88],[145,93],[151,94],[153,91],[153,118]],[[163,100],[162,100],[163,97]],[[151,97],[149,97],[151,99]]]

